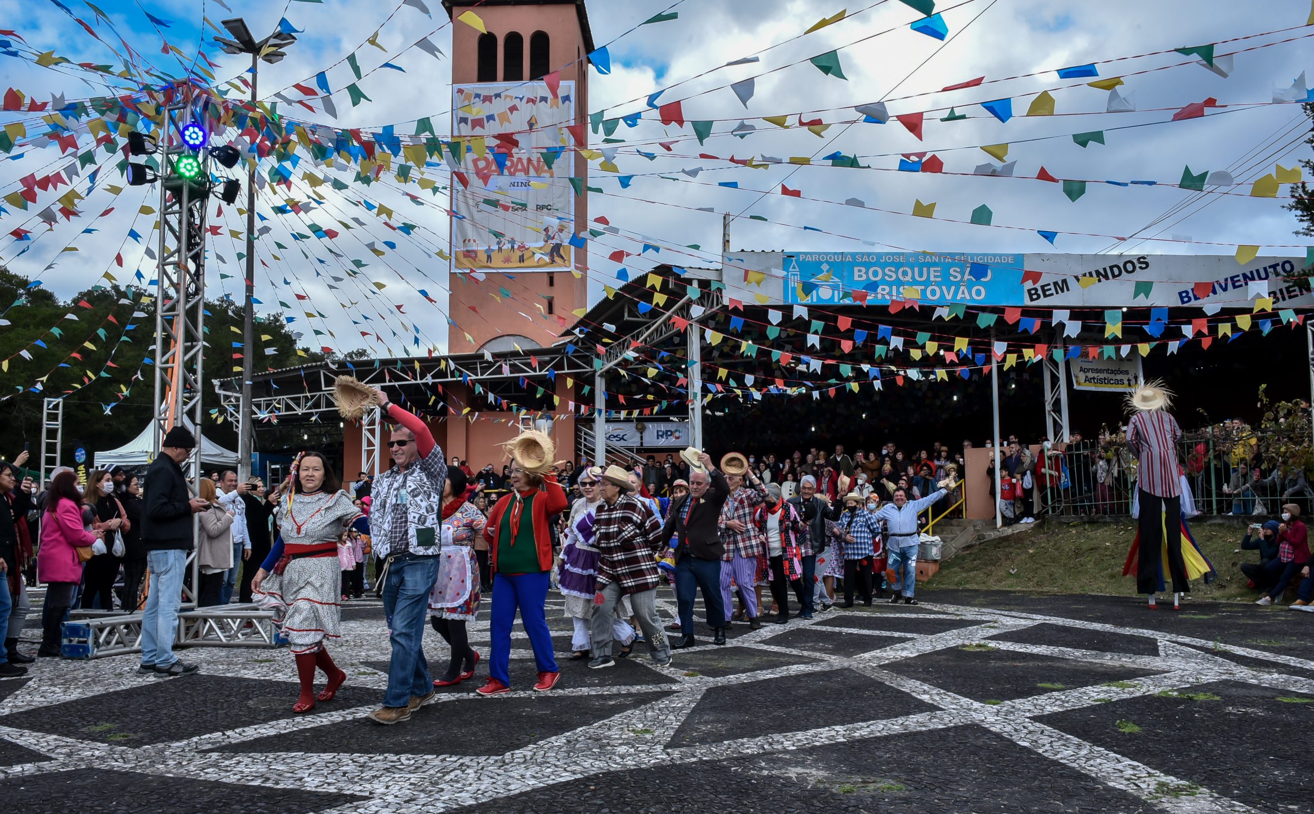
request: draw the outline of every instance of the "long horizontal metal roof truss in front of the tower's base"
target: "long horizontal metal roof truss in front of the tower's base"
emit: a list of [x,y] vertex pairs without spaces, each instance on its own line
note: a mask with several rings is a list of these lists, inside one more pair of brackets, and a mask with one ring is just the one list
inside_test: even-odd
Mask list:
[[[537,367],[531,356],[539,360]],[[444,362],[445,370],[443,370]],[[417,363],[419,364],[418,371],[415,370]],[[398,371],[403,371],[409,377],[398,379],[396,375]],[[350,363],[343,359],[313,362],[300,367],[258,373],[252,379],[254,398],[251,406],[258,418],[276,414],[283,419],[294,416],[335,413],[338,405],[332,400],[334,381],[343,375],[353,375],[365,384],[396,388],[465,380],[484,383],[522,377],[547,379],[549,371],[553,375],[566,376],[591,373],[593,358],[583,352],[566,352],[564,347],[536,347],[510,354],[480,351],[455,356],[394,356]],[[227,412],[233,421],[237,421],[242,395],[240,377],[215,379],[213,383],[214,391],[219,396],[221,408]]]

